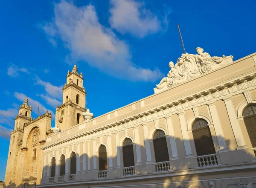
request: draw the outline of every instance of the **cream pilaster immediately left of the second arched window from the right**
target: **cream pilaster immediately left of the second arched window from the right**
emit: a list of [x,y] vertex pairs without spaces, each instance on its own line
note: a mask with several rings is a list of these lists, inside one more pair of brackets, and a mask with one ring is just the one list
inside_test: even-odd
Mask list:
[[190,142],[189,142],[189,133],[187,131],[184,113],[180,112],[180,113],[178,113],[178,115],[179,115],[179,119],[180,119],[180,127],[181,127],[181,132],[182,132],[182,137],[183,137],[183,143],[184,143],[185,151],[186,151],[185,158],[193,157]]

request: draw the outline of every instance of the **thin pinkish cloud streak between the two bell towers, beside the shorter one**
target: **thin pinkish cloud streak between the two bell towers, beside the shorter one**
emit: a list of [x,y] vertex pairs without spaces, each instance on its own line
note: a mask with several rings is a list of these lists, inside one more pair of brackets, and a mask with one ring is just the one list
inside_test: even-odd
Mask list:
[[[15,92],[14,93],[14,96],[15,98],[17,98],[18,100],[24,102],[25,101],[25,98],[26,98],[26,95],[23,94],[23,93],[17,93]],[[46,113],[46,111],[48,110],[48,112],[52,111],[52,110],[49,110],[47,109],[46,107],[44,107],[43,104],[41,104],[40,102],[36,101],[36,100],[33,100],[32,98],[28,97],[28,104],[31,105],[32,107],[32,110],[35,110],[35,113],[38,111],[38,106],[39,106],[39,114],[44,114]],[[54,116],[54,114],[52,113],[52,116]]]

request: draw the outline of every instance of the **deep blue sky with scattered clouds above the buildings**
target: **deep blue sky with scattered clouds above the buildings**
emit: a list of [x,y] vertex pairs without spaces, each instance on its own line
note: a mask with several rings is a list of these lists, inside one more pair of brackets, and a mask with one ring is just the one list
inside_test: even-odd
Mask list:
[[[26,96],[32,116],[55,112],[78,63],[87,107],[99,116],[154,93],[169,61],[204,48],[234,60],[256,52],[253,0],[12,0],[0,3],[0,180]],[[52,120],[52,126],[54,119]]]

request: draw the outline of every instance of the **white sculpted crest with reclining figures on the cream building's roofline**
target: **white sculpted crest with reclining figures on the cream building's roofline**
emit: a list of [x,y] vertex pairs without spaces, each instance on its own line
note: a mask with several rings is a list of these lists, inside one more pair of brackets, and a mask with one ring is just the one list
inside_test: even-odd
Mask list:
[[200,47],[197,47],[196,51],[198,52],[196,55],[188,53],[182,54],[175,65],[170,61],[169,67],[171,70],[168,72],[167,77],[164,77],[160,83],[156,85],[157,87],[154,88],[154,92],[158,93],[233,62],[232,55],[227,57],[224,55],[222,57],[211,57],[209,53],[204,52],[204,49]]

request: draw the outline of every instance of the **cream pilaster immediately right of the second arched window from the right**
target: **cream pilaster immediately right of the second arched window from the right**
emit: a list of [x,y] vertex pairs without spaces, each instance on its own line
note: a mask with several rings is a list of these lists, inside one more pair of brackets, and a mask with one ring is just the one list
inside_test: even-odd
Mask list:
[[220,147],[219,152],[225,152],[228,151],[227,149],[227,145],[226,145],[226,141],[225,141],[225,137],[221,128],[221,122],[220,119],[218,117],[218,113],[215,107],[215,102],[212,103],[208,103],[209,109],[210,109],[210,113],[212,115],[212,121],[214,124],[214,129],[215,129],[215,133],[217,136],[217,140],[218,140],[218,144]]

